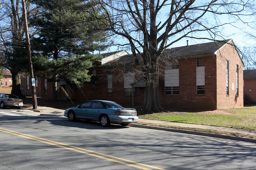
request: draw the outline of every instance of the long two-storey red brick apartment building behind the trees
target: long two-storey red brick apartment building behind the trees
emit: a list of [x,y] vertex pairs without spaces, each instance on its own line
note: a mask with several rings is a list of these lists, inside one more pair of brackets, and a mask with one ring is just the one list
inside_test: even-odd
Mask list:
[[[166,49],[160,57],[159,98],[165,108],[224,109],[243,107],[243,62],[234,42],[209,42]],[[126,51],[103,54],[89,74],[91,82],[60,82],[59,99],[93,99],[143,106],[145,79],[127,69],[134,66]],[[51,99],[52,85],[41,78],[41,97]],[[64,89],[63,92],[61,89]],[[47,89],[45,91],[45,89]]]

